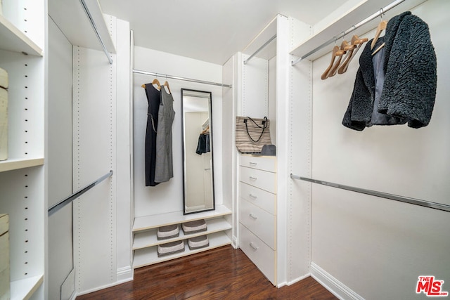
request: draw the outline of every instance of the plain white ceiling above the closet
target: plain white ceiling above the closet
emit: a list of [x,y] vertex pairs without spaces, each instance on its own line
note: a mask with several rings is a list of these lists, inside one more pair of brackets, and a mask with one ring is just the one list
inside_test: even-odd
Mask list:
[[98,0],[130,22],[134,44],[223,65],[277,13],[314,25],[347,0]]

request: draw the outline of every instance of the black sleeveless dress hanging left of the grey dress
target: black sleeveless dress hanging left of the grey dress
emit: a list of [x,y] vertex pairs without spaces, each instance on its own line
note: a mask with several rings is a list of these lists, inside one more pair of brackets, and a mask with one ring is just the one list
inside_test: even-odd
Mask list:
[[160,110],[161,93],[152,84],[146,84],[148,101],[146,130],[146,186],[155,186],[156,165],[156,132],[158,131],[158,113]]

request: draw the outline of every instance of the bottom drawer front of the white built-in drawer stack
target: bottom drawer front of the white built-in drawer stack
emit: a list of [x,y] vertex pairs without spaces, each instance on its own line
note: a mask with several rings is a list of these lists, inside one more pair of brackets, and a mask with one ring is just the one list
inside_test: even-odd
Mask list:
[[239,226],[239,247],[255,263],[273,285],[276,285],[275,252],[250,232],[245,226]]

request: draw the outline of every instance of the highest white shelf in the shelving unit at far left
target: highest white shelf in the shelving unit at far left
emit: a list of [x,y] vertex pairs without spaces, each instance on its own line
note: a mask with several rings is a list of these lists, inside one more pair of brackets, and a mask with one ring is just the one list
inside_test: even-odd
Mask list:
[[23,32],[18,30],[0,14],[0,49],[18,53],[27,53],[33,56],[42,56],[42,49],[34,44]]

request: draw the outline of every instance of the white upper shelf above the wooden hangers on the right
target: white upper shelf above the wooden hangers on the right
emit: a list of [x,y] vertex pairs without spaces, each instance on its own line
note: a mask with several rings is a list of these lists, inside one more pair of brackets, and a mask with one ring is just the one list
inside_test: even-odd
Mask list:
[[[352,8],[349,8],[348,11],[345,11],[341,15],[335,16],[335,18],[331,18],[330,22],[328,22],[328,25],[324,26],[321,30],[316,32],[309,39],[300,42],[300,44],[297,44],[297,46],[295,46],[290,51],[290,54],[292,54],[293,56],[297,56],[298,58],[303,57],[305,54],[318,48],[323,43],[326,43],[326,41],[333,39],[333,37],[339,36],[340,34],[342,34],[342,32],[345,32],[346,30],[349,30],[352,26],[357,25],[359,22],[368,18],[373,13],[379,12],[380,8],[383,8],[391,4],[392,1],[393,0],[360,1],[359,4],[353,6]],[[389,20],[394,15],[398,15],[403,11],[408,11],[409,9],[418,6],[419,4],[422,4],[425,1],[427,0],[406,0],[401,4],[398,4],[397,6],[392,8],[390,11],[386,13],[386,15],[383,15],[383,19]],[[367,22],[365,25],[361,25],[361,27],[359,27],[359,29],[356,30],[355,33],[359,37],[364,37],[364,34],[366,32],[369,32],[373,30],[375,27],[377,27],[380,20],[381,19],[378,17],[370,22]],[[314,27],[314,29],[316,28]],[[352,34],[353,33],[350,32],[345,38],[347,40],[351,39]],[[369,39],[371,38],[372,37],[369,37]],[[336,44],[340,45],[341,41],[342,39],[336,41]],[[330,52],[332,48],[333,44],[325,46],[321,48],[319,51],[316,51],[316,53],[311,54],[311,56],[308,56],[308,59],[315,60],[316,58],[319,58],[325,55],[326,53]]]

